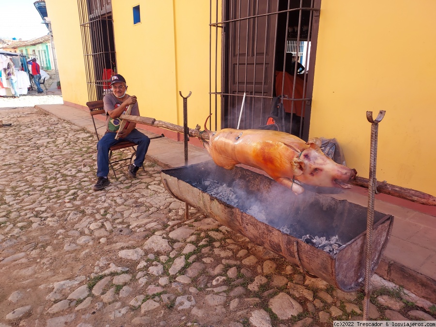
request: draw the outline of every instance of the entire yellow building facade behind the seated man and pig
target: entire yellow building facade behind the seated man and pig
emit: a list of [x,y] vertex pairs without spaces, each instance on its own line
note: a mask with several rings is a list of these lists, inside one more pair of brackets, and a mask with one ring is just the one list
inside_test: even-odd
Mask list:
[[[86,21],[77,0],[46,0],[65,104],[86,109],[87,101],[101,98],[105,91],[104,78],[100,91],[90,93],[90,71],[98,70],[97,75],[103,76],[103,68],[111,69],[126,78],[128,93],[138,96],[142,116],[183,125],[183,100],[179,91],[183,95],[191,91],[188,125],[203,125],[209,113],[213,113],[216,120],[211,128],[221,129],[237,121],[232,117],[228,123],[229,112],[230,109],[239,112],[240,107],[237,100],[234,108],[229,109],[230,101],[226,102],[226,99],[234,93],[231,88],[226,89],[226,85],[234,83],[236,87],[242,87],[247,84],[245,71],[248,72],[245,76],[260,76],[261,82],[255,80],[253,84],[262,84],[262,80],[267,84],[272,80],[260,70],[256,73],[256,68],[253,73],[247,64],[245,71],[232,71],[233,59],[229,53],[236,48],[240,50],[232,42],[239,40],[243,50],[247,45],[243,41],[246,36],[247,42],[251,42],[250,37],[263,33],[267,41],[269,35],[277,34],[271,32],[271,28],[279,24],[280,14],[274,21],[273,16],[262,14],[262,8],[254,5],[256,1],[246,1],[247,12],[258,17],[257,22],[268,16],[265,24],[251,23],[256,18],[246,19],[234,30],[226,29],[230,26],[226,24],[232,21],[229,17],[234,13],[245,10],[245,7],[237,6],[238,1],[82,2],[88,6]],[[253,7],[250,9],[251,2]],[[280,9],[283,1],[271,2],[277,3]],[[368,178],[371,125],[366,119],[366,111],[373,111],[375,118],[379,110],[386,110],[379,125],[377,180],[436,196],[436,178],[432,172],[436,151],[431,145],[436,138],[432,96],[436,86],[436,44],[431,42],[436,37],[436,23],[431,17],[436,3],[431,0],[402,2],[401,5],[394,0],[383,3],[317,0],[314,3],[308,11],[312,14],[303,13],[303,18],[310,17],[310,24],[316,25],[313,25],[311,35],[306,32],[311,41],[311,55],[305,63],[307,66],[310,63],[305,87],[310,93],[310,96],[306,94],[308,100],[305,100],[309,108],[304,118],[305,139],[336,138],[343,149],[346,165],[355,168],[359,176]],[[102,33],[89,28],[87,31],[96,35],[88,38],[85,35],[84,38],[83,27],[91,26],[103,6],[105,19],[112,24],[109,30],[113,30],[113,46],[108,50],[111,63],[102,68],[97,61],[87,63],[84,55],[86,51],[93,52],[93,37],[98,38]],[[69,15],[64,15],[65,12]],[[297,18],[296,22],[295,31],[297,28],[303,31],[304,19],[298,22]],[[288,25],[292,34],[291,30]],[[260,47],[256,42],[254,45]],[[419,49],[419,55],[414,49]],[[273,57],[277,64],[279,55],[276,53]],[[248,55],[241,58],[248,58]],[[256,66],[256,59],[252,66]],[[229,94],[225,90],[230,90]],[[240,91],[236,93],[238,99],[242,99]],[[248,95],[253,95],[250,101],[256,100],[256,92]],[[269,107],[270,102],[262,102],[259,112],[265,115]],[[246,123],[248,119],[258,118],[244,116],[243,120]]]

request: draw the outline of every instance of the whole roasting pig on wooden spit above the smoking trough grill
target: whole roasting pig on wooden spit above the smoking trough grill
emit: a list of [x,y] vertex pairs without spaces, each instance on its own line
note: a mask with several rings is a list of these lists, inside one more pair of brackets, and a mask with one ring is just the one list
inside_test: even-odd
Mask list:
[[305,142],[274,130],[226,128],[211,132],[206,124],[204,127],[209,134],[204,146],[218,166],[233,169],[241,163],[261,169],[295,194],[304,192],[298,182],[315,187],[350,188],[347,182],[357,173],[325,156],[319,139]]

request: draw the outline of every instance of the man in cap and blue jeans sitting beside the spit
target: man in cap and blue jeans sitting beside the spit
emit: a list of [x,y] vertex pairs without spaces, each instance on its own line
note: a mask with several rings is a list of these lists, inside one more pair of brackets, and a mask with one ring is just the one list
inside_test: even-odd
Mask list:
[[137,144],[136,157],[133,164],[128,166],[127,172],[130,177],[135,178],[136,172],[144,162],[150,139],[138,131],[136,123],[128,122],[122,133],[119,134],[120,140],[115,140],[118,128],[121,125],[120,116],[125,113],[128,106],[133,104],[131,115],[139,116],[138,100],[136,96],[126,94],[127,86],[125,78],[119,74],[110,78],[112,92],[103,98],[104,109],[108,114],[106,117],[106,133],[97,143],[97,183],[94,190],[100,190],[109,185],[109,148],[118,142],[130,141]]

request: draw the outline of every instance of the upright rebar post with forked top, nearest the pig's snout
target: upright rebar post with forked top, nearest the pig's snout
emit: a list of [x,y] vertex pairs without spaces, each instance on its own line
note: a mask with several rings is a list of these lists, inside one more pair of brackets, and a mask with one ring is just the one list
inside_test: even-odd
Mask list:
[[369,303],[371,297],[371,246],[373,243],[373,228],[374,228],[374,195],[376,189],[376,163],[377,163],[377,139],[378,139],[378,123],[385,116],[386,111],[380,110],[377,118],[373,119],[373,112],[366,112],[366,119],[371,123],[371,150],[370,150],[370,172],[368,185],[368,215],[366,218],[366,258],[365,258],[365,298],[363,300],[363,320],[368,320]]

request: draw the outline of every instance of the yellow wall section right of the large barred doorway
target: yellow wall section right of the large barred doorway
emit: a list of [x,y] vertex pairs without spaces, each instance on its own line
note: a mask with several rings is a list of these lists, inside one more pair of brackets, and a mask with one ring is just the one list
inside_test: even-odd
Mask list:
[[436,196],[436,2],[321,2],[310,136],[335,137],[368,177],[379,124],[377,180]]

